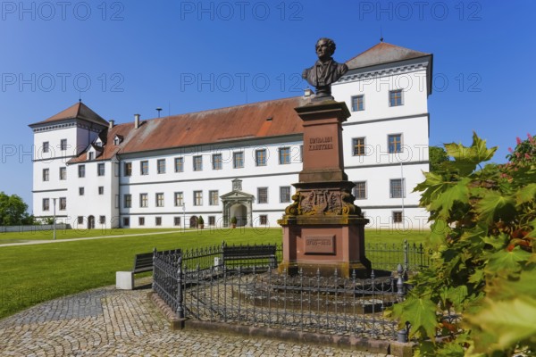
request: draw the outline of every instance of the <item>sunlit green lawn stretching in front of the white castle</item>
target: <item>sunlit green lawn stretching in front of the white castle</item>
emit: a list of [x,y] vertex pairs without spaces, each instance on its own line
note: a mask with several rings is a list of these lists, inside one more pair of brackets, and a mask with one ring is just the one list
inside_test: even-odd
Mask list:
[[[154,247],[158,250],[188,249],[220,245],[222,240],[230,244],[281,244],[281,228],[204,229],[127,237],[128,234],[165,230],[122,229],[125,237],[46,245],[0,246],[0,319],[37,303],[99,286],[113,285],[115,271],[130,270],[136,253],[151,252]],[[21,235],[21,240],[29,240],[27,235],[16,234]],[[93,237],[101,235],[102,232]],[[423,237],[425,232],[415,231],[401,234],[367,230],[365,233],[366,243],[400,243],[405,238],[410,242],[418,242],[423,241]]]

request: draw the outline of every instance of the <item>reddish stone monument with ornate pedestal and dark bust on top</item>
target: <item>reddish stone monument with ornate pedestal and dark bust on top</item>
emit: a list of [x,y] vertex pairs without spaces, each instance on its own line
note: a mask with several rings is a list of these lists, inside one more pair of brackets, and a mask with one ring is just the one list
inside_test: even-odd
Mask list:
[[318,61],[303,72],[316,88],[310,103],[295,108],[303,120],[303,170],[293,184],[293,203],[278,220],[283,228],[283,260],[279,271],[311,275],[320,271],[348,278],[356,271],[367,276],[371,263],[364,256],[364,219],[354,204],[353,182],[344,172],[342,123],[350,112],[344,102],[331,96],[331,84],[348,71],[332,59],[335,43],[320,38],[316,43]]

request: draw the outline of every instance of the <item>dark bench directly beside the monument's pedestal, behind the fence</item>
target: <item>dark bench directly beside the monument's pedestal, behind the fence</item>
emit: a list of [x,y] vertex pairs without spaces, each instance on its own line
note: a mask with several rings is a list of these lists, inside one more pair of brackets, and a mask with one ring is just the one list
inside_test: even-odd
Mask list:
[[247,266],[255,265],[259,261],[268,262],[272,269],[277,268],[277,257],[275,255],[275,245],[223,245],[223,265],[224,266]]

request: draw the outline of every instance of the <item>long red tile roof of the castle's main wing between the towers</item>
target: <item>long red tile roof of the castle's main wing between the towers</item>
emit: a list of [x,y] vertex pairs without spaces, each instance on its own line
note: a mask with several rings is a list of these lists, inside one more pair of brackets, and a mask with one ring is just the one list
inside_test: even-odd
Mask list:
[[[134,129],[134,120],[105,129],[105,152],[97,160],[107,160],[114,154],[138,153],[172,147],[224,143],[232,140],[279,137],[303,132],[302,120],[294,108],[306,104],[303,97],[291,97],[266,102],[232,106],[204,112],[172,115],[140,120]],[[120,145],[113,145],[113,137],[123,137]],[[86,161],[86,153],[71,160]]]

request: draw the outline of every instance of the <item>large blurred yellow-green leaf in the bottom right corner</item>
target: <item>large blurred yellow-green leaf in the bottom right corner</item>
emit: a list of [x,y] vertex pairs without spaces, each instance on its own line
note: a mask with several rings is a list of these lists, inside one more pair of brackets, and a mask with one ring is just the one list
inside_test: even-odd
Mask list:
[[506,351],[536,335],[536,299],[530,296],[498,302],[486,299],[482,311],[465,319],[470,325],[495,337],[493,344],[478,344],[476,341],[476,350],[488,353]]

